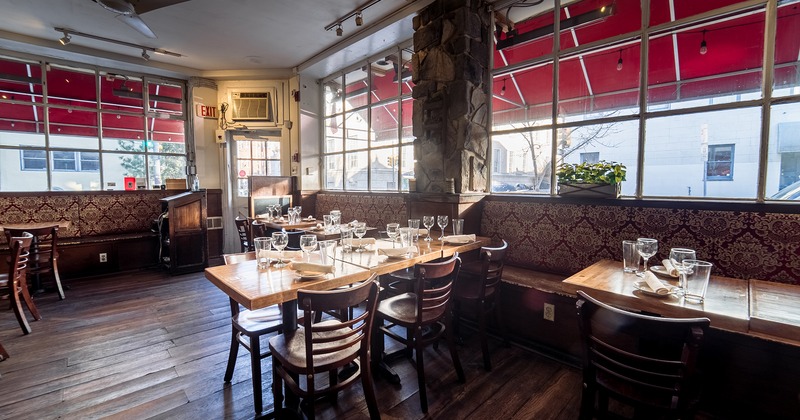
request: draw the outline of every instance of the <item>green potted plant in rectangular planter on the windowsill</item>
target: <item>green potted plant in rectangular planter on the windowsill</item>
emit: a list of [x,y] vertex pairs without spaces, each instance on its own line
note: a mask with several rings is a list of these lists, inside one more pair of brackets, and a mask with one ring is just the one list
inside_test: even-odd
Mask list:
[[617,198],[625,180],[625,165],[617,162],[562,163],[558,166],[558,194]]

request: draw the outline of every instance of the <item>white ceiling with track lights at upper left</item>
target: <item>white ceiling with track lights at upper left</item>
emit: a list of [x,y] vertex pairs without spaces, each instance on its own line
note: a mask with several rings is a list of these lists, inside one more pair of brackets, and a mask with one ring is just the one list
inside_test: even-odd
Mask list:
[[[351,18],[344,37],[324,28],[367,0],[189,0],[143,13],[150,39],[92,0],[0,0],[0,49],[153,72],[217,79],[283,78],[295,70],[320,78],[411,38],[412,16],[431,0],[382,0]],[[79,36],[61,46],[54,27],[182,54],[140,49]]]

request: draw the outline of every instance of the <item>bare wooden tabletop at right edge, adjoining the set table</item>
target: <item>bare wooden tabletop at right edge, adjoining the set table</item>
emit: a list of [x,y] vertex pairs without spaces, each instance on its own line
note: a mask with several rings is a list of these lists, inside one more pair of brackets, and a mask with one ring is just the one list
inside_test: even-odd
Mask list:
[[750,332],[800,345],[800,286],[750,280]]

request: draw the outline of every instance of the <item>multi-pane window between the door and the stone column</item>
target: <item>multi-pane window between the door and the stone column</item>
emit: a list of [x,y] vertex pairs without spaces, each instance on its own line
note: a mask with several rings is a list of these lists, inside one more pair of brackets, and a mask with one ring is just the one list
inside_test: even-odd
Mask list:
[[394,48],[323,82],[326,189],[408,190],[411,54],[409,47]]

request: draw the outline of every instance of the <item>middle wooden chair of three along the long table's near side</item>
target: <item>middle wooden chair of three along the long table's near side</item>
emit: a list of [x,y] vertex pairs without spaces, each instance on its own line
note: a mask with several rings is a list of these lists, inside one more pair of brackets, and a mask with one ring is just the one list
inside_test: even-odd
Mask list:
[[[450,357],[453,360],[458,379],[465,381],[464,370],[456,351],[452,332],[452,313],[450,298],[453,284],[458,278],[461,259],[458,253],[444,262],[420,263],[414,267],[416,284],[414,292],[402,293],[382,300],[376,314],[376,331],[373,341],[373,357],[383,354],[383,336],[403,343],[406,348],[383,359],[388,361],[396,355],[411,355],[416,359],[417,381],[422,412],[428,412],[428,394],[425,388],[425,364],[423,351],[428,344],[435,344],[442,335],[447,338]],[[383,322],[387,321],[387,325]],[[390,328],[401,326],[406,329],[406,337],[396,334]],[[450,331],[447,331],[450,329]]]

